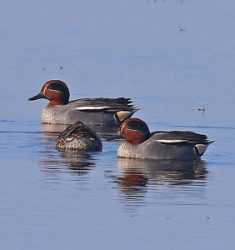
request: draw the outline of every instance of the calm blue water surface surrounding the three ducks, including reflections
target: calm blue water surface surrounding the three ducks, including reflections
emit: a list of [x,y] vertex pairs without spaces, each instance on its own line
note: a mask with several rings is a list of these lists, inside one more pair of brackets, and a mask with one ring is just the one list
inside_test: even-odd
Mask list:
[[[1,1],[1,249],[235,248],[234,12],[232,0]],[[199,163],[120,160],[121,141],[58,152],[46,101],[27,101],[53,78],[72,99],[128,96],[151,130],[216,142]]]

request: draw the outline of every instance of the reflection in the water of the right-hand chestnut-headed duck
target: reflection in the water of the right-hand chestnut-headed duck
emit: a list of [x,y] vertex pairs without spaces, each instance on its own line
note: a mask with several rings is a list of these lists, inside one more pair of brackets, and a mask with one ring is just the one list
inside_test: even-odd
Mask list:
[[150,185],[203,185],[206,166],[203,161],[137,160],[120,158],[119,190],[126,198],[143,196]]

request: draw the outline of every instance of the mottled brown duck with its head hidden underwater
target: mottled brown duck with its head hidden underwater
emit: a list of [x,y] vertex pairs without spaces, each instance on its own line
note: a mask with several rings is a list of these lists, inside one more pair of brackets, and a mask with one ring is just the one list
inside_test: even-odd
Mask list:
[[59,134],[56,149],[59,151],[101,151],[102,142],[95,131],[78,121]]

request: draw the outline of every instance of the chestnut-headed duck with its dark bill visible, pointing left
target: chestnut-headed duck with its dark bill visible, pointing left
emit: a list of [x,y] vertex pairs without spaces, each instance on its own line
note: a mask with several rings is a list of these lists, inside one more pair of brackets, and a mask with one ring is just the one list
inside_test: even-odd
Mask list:
[[42,111],[43,124],[70,125],[82,121],[87,125],[119,126],[138,110],[131,98],[81,98],[69,101],[69,97],[65,82],[49,80],[43,84],[39,94],[28,100],[49,100]]

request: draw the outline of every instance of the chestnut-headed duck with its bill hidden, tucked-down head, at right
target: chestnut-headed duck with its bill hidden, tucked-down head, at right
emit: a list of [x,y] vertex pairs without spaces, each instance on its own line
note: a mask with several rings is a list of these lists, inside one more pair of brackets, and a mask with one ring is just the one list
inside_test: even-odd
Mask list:
[[200,160],[209,144],[206,135],[192,131],[150,132],[139,118],[128,118],[120,125],[120,136],[126,141],[119,148],[121,158],[153,160]]

